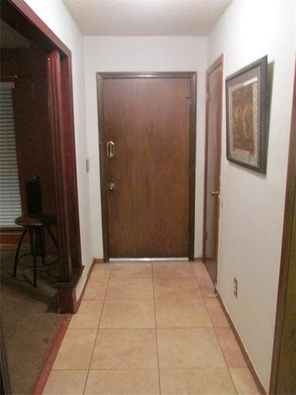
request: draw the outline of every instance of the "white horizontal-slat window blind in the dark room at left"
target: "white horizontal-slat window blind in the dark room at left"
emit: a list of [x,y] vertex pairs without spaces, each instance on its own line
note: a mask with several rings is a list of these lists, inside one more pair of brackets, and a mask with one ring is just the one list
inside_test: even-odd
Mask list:
[[22,215],[15,147],[12,87],[3,87],[2,85],[0,94],[0,226],[11,228],[17,227],[14,220]]

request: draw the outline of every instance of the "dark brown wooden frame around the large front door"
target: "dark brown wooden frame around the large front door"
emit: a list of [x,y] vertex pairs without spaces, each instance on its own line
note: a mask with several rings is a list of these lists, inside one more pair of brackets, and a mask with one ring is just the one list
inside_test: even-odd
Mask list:
[[121,78],[190,78],[191,106],[190,106],[190,150],[189,150],[189,238],[188,238],[188,258],[194,261],[194,226],[195,226],[195,152],[196,152],[196,91],[197,73],[186,72],[145,72],[145,73],[97,73],[97,98],[99,115],[99,155],[100,155],[100,181],[101,181],[101,208],[102,208],[102,231],[103,231],[103,253],[104,262],[109,262],[109,241],[108,241],[108,215],[107,215],[107,194],[106,177],[104,168],[104,103],[103,103],[103,82],[105,79]]

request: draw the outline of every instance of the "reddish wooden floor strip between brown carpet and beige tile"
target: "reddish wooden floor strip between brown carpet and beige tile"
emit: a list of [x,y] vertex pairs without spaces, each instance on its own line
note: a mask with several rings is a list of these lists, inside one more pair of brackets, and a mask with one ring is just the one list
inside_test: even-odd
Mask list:
[[46,361],[42,367],[41,372],[39,373],[38,379],[35,382],[35,385],[32,390],[32,395],[41,395],[42,394],[42,392],[45,388],[46,382],[48,380],[48,376],[49,376],[52,366],[54,364],[55,358],[58,355],[61,344],[62,344],[63,339],[65,337],[66,331],[67,331],[68,326],[70,324],[71,317],[72,317],[71,314],[65,314],[65,319],[60,326],[57,336],[55,336],[55,339],[53,340],[49,354],[46,358]]

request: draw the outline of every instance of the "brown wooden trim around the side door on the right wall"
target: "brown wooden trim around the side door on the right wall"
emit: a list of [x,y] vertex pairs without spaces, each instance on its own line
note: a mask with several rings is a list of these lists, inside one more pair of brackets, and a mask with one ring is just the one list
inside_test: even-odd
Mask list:
[[[215,60],[215,62],[207,69],[207,82],[206,82],[206,135],[205,135],[205,172],[204,172],[204,225],[202,229],[202,261],[205,262],[206,259],[206,230],[207,230],[207,174],[208,174],[208,142],[209,142],[209,123],[208,123],[208,116],[209,116],[209,101],[207,99],[208,97],[208,92],[209,92],[209,76],[213,71],[215,71],[219,66],[222,66],[222,69],[224,68],[224,53],[222,53],[221,56],[219,56],[218,59]],[[223,77],[222,77],[223,79]],[[220,103],[219,103],[219,129],[220,129],[220,138],[218,139],[218,191],[220,195],[220,189],[221,189],[221,181],[220,181],[220,175],[221,175],[221,139],[222,139],[222,108],[223,108],[223,81],[221,83],[221,90],[220,90]],[[218,251],[218,245],[219,245],[219,216],[220,216],[220,204],[217,205],[217,221],[218,221],[218,226],[217,226],[217,235],[216,235],[216,251]],[[217,260],[217,257],[216,257]],[[216,272],[216,281],[217,281],[217,272]]]

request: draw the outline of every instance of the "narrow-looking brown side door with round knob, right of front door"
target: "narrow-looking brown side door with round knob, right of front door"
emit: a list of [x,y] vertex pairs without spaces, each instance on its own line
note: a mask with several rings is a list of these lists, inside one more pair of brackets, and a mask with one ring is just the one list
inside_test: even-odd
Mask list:
[[207,70],[203,259],[217,281],[223,58]]

